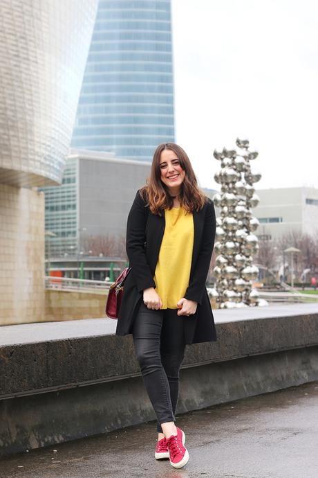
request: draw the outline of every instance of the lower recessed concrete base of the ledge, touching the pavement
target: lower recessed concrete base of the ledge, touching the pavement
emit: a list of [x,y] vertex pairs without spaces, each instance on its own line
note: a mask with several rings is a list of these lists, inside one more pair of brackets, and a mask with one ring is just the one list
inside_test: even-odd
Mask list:
[[[178,414],[318,378],[318,347],[180,373]],[[154,420],[141,377],[0,401],[0,456]],[[156,430],[156,423],[153,423]]]

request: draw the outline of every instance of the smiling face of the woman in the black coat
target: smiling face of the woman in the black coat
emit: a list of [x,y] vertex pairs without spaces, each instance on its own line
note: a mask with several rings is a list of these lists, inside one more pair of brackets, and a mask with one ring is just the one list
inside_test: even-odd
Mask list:
[[176,153],[172,150],[162,150],[160,154],[161,181],[169,188],[171,195],[180,193],[181,184],[185,179],[185,170],[180,165]]

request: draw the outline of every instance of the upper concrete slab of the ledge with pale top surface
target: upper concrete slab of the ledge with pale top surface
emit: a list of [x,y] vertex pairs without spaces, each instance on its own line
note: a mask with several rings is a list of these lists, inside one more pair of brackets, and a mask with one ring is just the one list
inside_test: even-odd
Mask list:
[[[294,315],[288,315],[291,308]],[[272,309],[277,311],[274,317],[271,317],[273,310],[261,308],[263,318],[254,315],[246,318],[247,312],[250,315],[253,312],[251,310],[214,311],[218,341],[187,346],[183,367],[318,344],[318,305],[284,306],[281,310],[274,306]],[[235,313],[231,317],[229,312]],[[131,336],[111,334],[115,321],[71,321],[64,328],[64,323],[54,324],[55,336],[48,339],[44,339],[43,333],[46,331],[47,337],[51,337],[52,324],[0,328],[0,332],[15,328],[20,334],[16,344],[8,343],[15,339],[15,330],[4,330],[2,334],[0,398],[140,375]],[[77,331],[77,328],[81,330]],[[37,334],[40,335],[38,339]],[[77,334],[85,335],[77,337]]]

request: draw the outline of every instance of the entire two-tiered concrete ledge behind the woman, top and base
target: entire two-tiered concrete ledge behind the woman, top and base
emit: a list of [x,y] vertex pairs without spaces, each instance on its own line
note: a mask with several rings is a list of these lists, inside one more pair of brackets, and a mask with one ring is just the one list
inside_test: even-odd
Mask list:
[[[187,346],[179,413],[318,379],[316,305],[215,317],[218,342]],[[92,319],[0,328],[0,454],[154,419],[131,337],[111,335],[114,326]]]

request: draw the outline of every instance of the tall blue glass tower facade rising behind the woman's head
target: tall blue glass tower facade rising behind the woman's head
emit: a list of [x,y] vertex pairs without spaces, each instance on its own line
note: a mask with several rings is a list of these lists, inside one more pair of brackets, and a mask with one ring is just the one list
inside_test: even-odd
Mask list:
[[174,142],[171,0],[100,0],[74,148],[151,161]]

